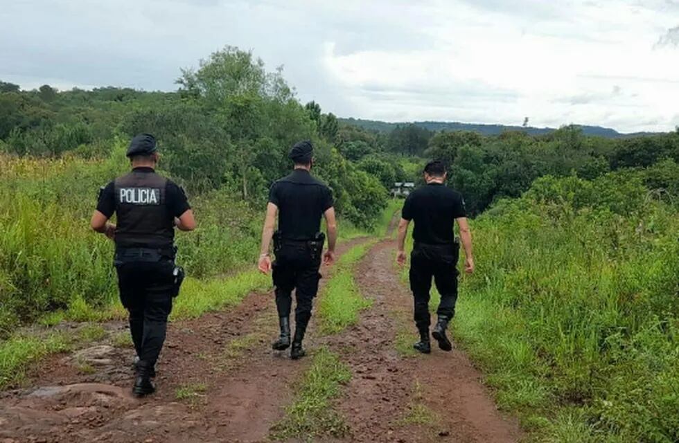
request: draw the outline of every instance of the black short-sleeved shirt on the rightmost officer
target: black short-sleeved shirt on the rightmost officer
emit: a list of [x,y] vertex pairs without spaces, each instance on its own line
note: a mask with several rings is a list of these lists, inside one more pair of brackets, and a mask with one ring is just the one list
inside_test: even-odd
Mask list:
[[455,242],[455,219],[466,217],[462,195],[440,183],[414,190],[405,199],[401,217],[413,220],[413,239],[425,244]]

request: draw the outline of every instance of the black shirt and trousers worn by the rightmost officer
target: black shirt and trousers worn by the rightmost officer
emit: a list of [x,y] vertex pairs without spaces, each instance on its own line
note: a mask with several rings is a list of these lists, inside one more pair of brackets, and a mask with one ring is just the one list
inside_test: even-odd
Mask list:
[[457,260],[459,242],[455,239],[455,219],[466,217],[459,192],[440,183],[414,190],[405,200],[401,217],[414,220],[414,247],[410,258],[410,288],[414,296],[414,320],[428,341],[432,277],[441,294],[436,314],[447,325],[455,315],[457,302]]

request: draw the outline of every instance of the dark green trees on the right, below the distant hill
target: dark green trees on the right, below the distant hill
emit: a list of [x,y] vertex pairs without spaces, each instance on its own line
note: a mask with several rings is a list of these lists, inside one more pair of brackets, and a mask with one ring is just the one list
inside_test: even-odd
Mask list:
[[388,135],[374,136],[382,143],[382,152],[447,163],[449,184],[465,196],[472,215],[499,199],[520,197],[545,175],[594,179],[625,168],[648,168],[662,160],[679,161],[679,129],[652,136],[603,138],[585,136],[576,126],[540,136],[524,132],[483,136],[403,125]]

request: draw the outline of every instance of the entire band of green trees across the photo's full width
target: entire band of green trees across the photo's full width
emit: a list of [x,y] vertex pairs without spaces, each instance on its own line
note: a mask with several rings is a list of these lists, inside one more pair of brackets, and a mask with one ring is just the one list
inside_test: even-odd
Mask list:
[[[280,70],[227,47],[187,69],[172,93],[100,88],[20,91],[0,82],[0,151],[31,156],[105,158],[113,141],[152,132],[163,167],[191,193],[229,192],[261,206],[286,154],[304,138],[317,146],[316,172],[333,188],[340,215],[369,227],[395,181],[421,181],[424,159],[450,166],[450,186],[471,215],[520,197],[538,177],[599,177],[623,168],[679,161],[679,130],[633,138],[585,136],[566,126],[551,134],[432,132],[396,125],[389,133],[340,123],[319,104],[302,105]],[[351,120],[349,120],[351,121]]]

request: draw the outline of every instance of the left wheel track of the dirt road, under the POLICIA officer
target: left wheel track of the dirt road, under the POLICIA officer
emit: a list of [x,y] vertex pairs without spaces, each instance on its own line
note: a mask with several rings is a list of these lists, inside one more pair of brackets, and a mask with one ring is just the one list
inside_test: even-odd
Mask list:
[[[365,240],[340,244],[338,255]],[[0,392],[0,442],[265,441],[308,365],[270,349],[277,328],[270,293],[171,323],[158,392],[141,400],[130,395],[130,348],[91,347],[97,363],[85,372],[77,356],[53,356],[33,370],[31,388]]]

